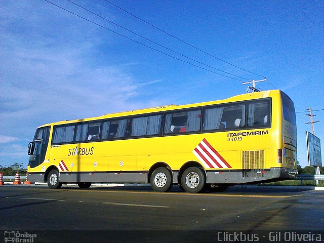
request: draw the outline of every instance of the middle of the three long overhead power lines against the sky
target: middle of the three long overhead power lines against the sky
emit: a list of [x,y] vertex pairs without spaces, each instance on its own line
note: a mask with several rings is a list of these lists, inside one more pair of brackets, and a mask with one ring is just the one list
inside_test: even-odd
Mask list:
[[123,28],[123,29],[125,29],[125,30],[127,30],[127,31],[129,31],[129,32],[131,32],[131,33],[133,33],[133,34],[135,34],[135,35],[137,35],[137,36],[140,36],[140,37],[146,39],[146,41],[149,41],[149,42],[151,42],[151,43],[154,43],[155,45],[157,45],[157,46],[159,46],[159,47],[162,47],[162,48],[165,48],[165,49],[167,49],[167,50],[169,50],[169,51],[171,51],[171,52],[173,52],[173,53],[176,53],[176,54],[178,54],[178,55],[180,55],[180,56],[182,56],[182,57],[188,58],[188,59],[190,59],[191,61],[197,62],[197,63],[199,63],[199,64],[202,64],[202,65],[205,65],[205,66],[207,66],[207,67],[213,68],[213,69],[215,69],[215,70],[218,70],[218,71],[224,72],[224,73],[226,73],[226,74],[233,75],[233,76],[235,76],[235,77],[239,77],[239,78],[242,78],[242,79],[250,80],[249,78],[245,78],[245,77],[237,76],[237,75],[232,74],[232,73],[229,73],[229,72],[225,72],[225,71],[223,71],[223,70],[221,70],[221,69],[218,69],[218,68],[216,68],[216,67],[210,66],[210,65],[205,64],[205,63],[203,63],[203,62],[199,62],[199,61],[197,61],[197,60],[195,60],[195,59],[193,59],[193,58],[187,57],[187,56],[185,56],[185,55],[183,55],[183,54],[181,54],[181,53],[179,53],[179,52],[176,52],[176,51],[174,51],[174,50],[172,50],[172,49],[170,49],[170,48],[167,48],[167,47],[165,47],[165,46],[163,46],[163,45],[160,45],[160,44],[158,44],[158,43],[152,41],[151,39],[148,39],[148,38],[146,38],[146,37],[144,37],[144,36],[142,36],[142,35],[140,35],[140,34],[134,32],[134,31],[132,31],[132,30],[129,30],[129,29],[127,29],[127,28],[125,28],[125,27],[123,27],[123,26],[121,26],[121,25],[119,25],[119,24],[116,24],[116,23],[112,22],[111,20],[106,19],[106,18],[104,18],[104,17],[102,17],[102,16],[100,16],[100,15],[98,15],[98,14],[96,14],[96,13],[90,11],[89,9],[86,9],[86,8],[84,8],[84,7],[82,7],[82,6],[78,5],[78,4],[76,4],[76,3],[73,3],[73,2],[70,1],[70,0],[66,0],[66,1],[70,2],[71,4],[74,4],[75,6],[77,6],[77,7],[79,7],[79,8],[82,8],[82,9],[88,11],[89,13],[92,13],[92,14],[98,16],[99,18],[102,18],[102,19],[108,21],[109,23],[112,23],[112,24],[114,24],[114,25],[116,25],[116,26],[118,26],[118,27],[120,27],[120,28]]

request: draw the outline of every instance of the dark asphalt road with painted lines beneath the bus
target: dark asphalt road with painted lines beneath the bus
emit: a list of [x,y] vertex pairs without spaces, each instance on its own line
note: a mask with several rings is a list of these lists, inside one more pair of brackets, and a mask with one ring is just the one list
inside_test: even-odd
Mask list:
[[[130,231],[119,230],[143,230],[141,236],[155,232],[163,242],[176,242],[175,238],[170,240],[172,232],[180,232],[175,237],[181,237],[198,232],[193,230],[314,231],[324,230],[323,202],[324,192],[313,190],[229,188],[221,193],[189,194],[177,186],[171,192],[157,193],[150,187],[79,189],[63,185],[53,190],[47,186],[4,185],[0,187],[0,230],[43,230],[44,242],[57,242],[52,238],[53,230],[65,230],[67,242],[73,241],[66,238],[71,230],[113,230],[109,235],[114,232],[124,237],[116,242],[136,241],[128,237]],[[85,232],[91,235],[91,231]],[[152,238],[145,239],[151,242]]]

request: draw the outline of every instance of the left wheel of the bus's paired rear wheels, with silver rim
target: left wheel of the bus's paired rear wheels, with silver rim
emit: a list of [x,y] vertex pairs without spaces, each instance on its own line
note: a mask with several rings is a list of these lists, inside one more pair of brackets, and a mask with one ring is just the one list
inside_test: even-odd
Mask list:
[[154,191],[169,191],[173,186],[171,171],[165,167],[155,169],[151,175],[150,182]]

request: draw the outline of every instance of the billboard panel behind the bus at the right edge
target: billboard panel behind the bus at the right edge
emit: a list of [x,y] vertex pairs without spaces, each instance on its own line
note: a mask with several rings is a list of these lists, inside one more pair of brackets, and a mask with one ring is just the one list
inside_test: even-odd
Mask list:
[[320,154],[320,139],[310,132],[306,132],[307,153],[309,166],[322,166],[322,157]]

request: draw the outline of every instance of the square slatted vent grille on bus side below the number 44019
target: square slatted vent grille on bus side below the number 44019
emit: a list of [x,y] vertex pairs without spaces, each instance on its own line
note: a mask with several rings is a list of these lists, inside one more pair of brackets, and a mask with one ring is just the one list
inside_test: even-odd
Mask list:
[[242,151],[242,177],[264,177],[264,150]]

